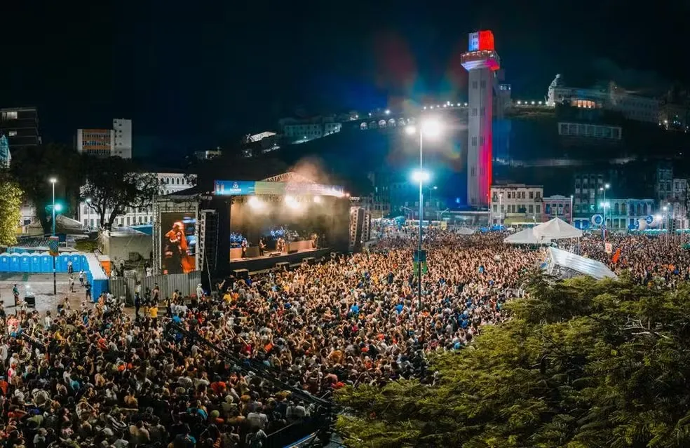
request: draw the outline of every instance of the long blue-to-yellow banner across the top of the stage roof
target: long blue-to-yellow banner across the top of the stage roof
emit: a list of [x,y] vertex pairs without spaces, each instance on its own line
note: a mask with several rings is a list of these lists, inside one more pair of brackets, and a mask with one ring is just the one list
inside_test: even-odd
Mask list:
[[284,196],[344,196],[344,189],[337,185],[305,184],[302,182],[254,182],[246,180],[217,180],[214,191],[217,196],[251,196],[255,194]]

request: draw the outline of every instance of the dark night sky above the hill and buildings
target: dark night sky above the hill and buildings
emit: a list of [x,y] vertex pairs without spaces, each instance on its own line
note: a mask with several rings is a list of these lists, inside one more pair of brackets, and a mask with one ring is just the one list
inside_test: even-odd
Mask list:
[[136,154],[226,145],[295,111],[463,99],[477,29],[494,32],[515,99],[541,99],[556,73],[690,84],[686,0],[5,3],[0,107],[38,106],[44,140],[70,144],[132,118]]

